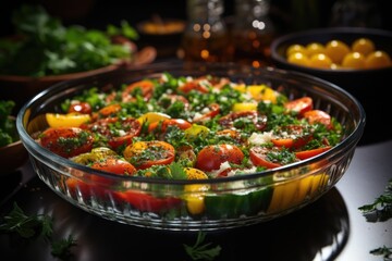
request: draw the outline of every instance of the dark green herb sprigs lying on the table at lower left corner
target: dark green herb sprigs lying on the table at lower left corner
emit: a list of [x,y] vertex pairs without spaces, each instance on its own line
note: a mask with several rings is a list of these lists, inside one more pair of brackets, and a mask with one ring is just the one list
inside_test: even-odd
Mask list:
[[10,213],[0,223],[0,231],[16,233],[23,238],[42,236],[51,244],[51,252],[54,257],[69,257],[71,254],[71,247],[76,246],[76,240],[71,235],[66,239],[52,240],[52,226],[53,220],[51,216],[47,214],[26,215],[17,203],[14,202]]

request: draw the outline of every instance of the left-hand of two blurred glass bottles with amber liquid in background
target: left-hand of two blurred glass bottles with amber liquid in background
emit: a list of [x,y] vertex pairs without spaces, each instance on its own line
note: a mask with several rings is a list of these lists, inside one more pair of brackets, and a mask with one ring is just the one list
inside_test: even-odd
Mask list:
[[230,61],[223,12],[223,0],[187,0],[188,21],[180,58],[185,61]]

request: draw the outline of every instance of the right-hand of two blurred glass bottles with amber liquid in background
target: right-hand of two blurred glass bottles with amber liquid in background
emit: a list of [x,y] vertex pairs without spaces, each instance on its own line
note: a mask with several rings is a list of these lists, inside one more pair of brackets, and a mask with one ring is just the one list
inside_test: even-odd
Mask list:
[[259,67],[270,64],[275,28],[269,17],[270,0],[235,0],[231,32],[235,62]]

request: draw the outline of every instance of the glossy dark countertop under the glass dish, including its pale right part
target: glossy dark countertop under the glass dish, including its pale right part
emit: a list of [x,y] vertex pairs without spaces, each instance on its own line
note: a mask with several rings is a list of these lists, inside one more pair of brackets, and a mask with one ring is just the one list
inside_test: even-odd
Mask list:
[[[208,232],[206,243],[220,246],[216,260],[375,260],[369,253],[382,246],[392,247],[392,219],[368,222],[358,207],[372,202],[392,178],[392,139],[362,145],[345,175],[316,202],[277,220]],[[159,253],[163,259],[192,260],[183,244],[193,245],[197,234],[164,232],[118,224],[73,207],[56,195],[34,173],[27,161],[21,169],[2,176],[1,216],[13,202],[27,214],[47,213],[54,219],[54,235],[77,238],[69,260],[131,260],[143,254],[147,260]],[[2,260],[58,260],[42,239],[21,240],[0,234]]]

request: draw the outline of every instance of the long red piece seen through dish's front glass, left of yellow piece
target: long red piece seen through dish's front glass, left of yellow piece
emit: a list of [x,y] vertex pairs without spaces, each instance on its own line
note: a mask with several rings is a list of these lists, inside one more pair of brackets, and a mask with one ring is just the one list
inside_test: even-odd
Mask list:
[[128,202],[139,211],[150,211],[155,213],[181,207],[182,202],[180,198],[157,198],[149,194],[134,190],[114,191],[113,194],[118,199]]

